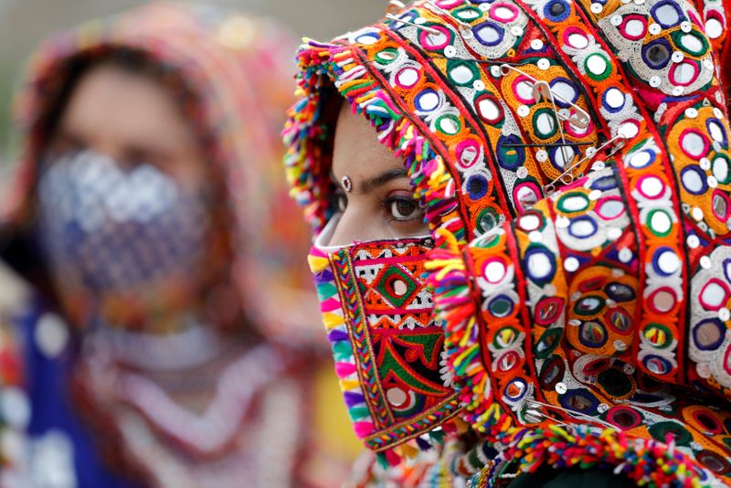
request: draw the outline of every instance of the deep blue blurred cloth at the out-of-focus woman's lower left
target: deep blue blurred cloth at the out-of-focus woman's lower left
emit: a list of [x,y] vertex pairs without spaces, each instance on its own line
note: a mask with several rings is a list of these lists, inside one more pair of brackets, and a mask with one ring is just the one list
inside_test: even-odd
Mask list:
[[34,302],[16,323],[24,342],[27,393],[32,411],[28,426],[30,440],[39,440],[54,430],[66,434],[73,445],[79,488],[137,486],[113,475],[104,466],[89,428],[79,419],[75,406],[71,404],[69,383],[74,363],[73,347],[69,345],[64,353],[54,358],[48,358],[38,349],[35,331],[45,312],[40,302]]

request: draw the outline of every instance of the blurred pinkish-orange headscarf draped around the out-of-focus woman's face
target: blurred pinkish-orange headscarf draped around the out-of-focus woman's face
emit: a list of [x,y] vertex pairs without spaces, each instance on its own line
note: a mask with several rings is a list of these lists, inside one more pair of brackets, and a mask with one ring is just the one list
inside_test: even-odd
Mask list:
[[[197,307],[205,311],[202,320],[217,326],[236,324],[243,311],[265,334],[287,334],[292,341],[309,334],[302,317],[312,313],[300,303],[307,302],[302,296],[311,285],[304,284],[306,266],[295,258],[306,232],[285,225],[291,208],[275,164],[281,158],[282,107],[291,102],[291,46],[289,31],[267,19],[205,5],[155,3],[52,37],[38,49],[16,99],[21,161],[3,209],[5,239],[35,232],[38,168],[49,124],[79,70],[83,74],[84,66],[125,53],[144,59],[144,74],[175,97],[194,126],[217,196],[200,279],[164,280],[143,293],[98,297],[82,278],[69,275],[55,294],[73,323],[88,324],[101,310],[111,324],[162,332],[167,326],[155,323],[151,313]],[[9,263],[48,288],[48,270],[38,270],[37,257],[18,249],[30,248],[11,249]],[[281,301],[289,305],[281,307]]]

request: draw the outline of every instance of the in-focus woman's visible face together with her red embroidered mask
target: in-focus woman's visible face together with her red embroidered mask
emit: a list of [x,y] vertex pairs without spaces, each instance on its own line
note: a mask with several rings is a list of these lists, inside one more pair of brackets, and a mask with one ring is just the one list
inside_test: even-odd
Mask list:
[[424,281],[433,243],[423,209],[400,162],[372,135],[344,107],[334,136],[332,215],[310,264],[355,431],[383,451],[450,419],[457,401],[440,371],[444,334]]

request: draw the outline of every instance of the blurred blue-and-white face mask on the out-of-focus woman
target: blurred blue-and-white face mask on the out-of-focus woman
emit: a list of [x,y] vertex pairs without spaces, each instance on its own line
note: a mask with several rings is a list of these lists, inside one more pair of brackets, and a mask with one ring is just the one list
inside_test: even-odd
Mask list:
[[[37,239],[72,318],[142,324],[190,297],[207,207],[150,164],[84,151],[43,164]],[[132,323],[132,324],[131,324]]]

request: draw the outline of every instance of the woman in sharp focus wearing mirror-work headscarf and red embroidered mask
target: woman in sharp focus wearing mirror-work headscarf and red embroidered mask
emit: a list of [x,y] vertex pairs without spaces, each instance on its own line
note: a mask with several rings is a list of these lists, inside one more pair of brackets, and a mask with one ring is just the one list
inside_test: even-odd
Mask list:
[[286,162],[384,461],[729,483],[725,26],[713,2],[423,0],[302,47]]

